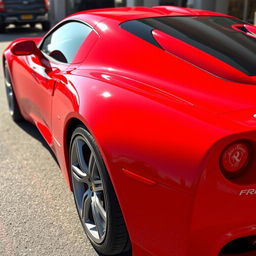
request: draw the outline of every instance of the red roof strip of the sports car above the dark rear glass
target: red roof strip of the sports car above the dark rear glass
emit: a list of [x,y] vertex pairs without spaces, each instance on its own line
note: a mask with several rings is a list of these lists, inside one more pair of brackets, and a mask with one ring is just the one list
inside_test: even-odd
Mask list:
[[[193,16],[193,15],[218,15],[228,16],[226,14],[220,14],[216,12],[198,10],[191,8],[182,8],[177,6],[155,6],[149,7],[120,7],[120,8],[106,8],[106,9],[95,9],[79,12],[72,15],[72,18],[86,19],[90,16],[90,20],[99,21],[103,18],[116,20],[119,22],[125,22],[133,19],[153,18],[161,16]],[[77,16],[77,17],[76,17]],[[94,18],[93,18],[94,17]],[[93,20],[94,19],[94,20]],[[94,22],[93,22],[94,23]]]

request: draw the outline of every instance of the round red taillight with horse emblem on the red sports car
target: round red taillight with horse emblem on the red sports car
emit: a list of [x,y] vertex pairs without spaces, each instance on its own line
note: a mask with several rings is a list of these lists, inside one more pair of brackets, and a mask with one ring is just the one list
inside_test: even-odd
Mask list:
[[237,141],[227,146],[220,158],[220,166],[227,178],[239,176],[251,161],[251,145],[247,141]]

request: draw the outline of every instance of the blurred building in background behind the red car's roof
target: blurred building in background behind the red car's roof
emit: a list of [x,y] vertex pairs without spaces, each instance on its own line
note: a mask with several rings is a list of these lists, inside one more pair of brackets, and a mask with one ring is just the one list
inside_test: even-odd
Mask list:
[[50,19],[55,24],[65,16],[88,9],[121,6],[175,5],[227,13],[253,23],[256,0],[50,0]]

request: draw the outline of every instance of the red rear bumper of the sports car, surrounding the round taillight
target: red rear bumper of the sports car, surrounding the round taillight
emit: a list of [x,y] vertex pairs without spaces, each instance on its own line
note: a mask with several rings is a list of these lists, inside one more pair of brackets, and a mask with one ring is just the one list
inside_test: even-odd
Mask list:
[[[228,180],[219,169],[219,157],[225,145],[236,140],[229,137],[212,148],[198,184],[190,228],[189,256],[231,256],[223,248],[240,239],[250,240],[236,256],[256,255],[256,189],[255,132],[243,134],[252,142],[254,153],[251,168],[237,180]],[[229,142],[230,140],[230,142]],[[241,246],[240,246],[241,247]]]

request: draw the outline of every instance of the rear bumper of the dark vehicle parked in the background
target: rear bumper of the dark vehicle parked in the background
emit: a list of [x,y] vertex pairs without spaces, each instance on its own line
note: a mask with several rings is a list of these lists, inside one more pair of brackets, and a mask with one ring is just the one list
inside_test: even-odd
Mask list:
[[40,22],[48,21],[48,13],[33,13],[33,14],[30,14],[32,16],[31,18],[24,18],[23,15],[28,15],[28,14],[1,13],[0,23],[8,25],[8,24],[40,23]]

